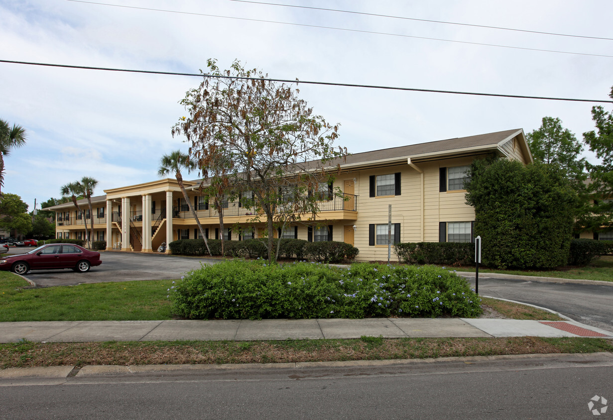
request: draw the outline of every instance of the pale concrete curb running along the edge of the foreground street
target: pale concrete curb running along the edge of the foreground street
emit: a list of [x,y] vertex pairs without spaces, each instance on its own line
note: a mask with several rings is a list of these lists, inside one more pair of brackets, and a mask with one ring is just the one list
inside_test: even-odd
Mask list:
[[[557,359],[562,357],[574,357],[579,359],[579,363],[585,361],[606,361],[613,362],[613,353],[547,353],[547,354],[507,354],[501,356],[454,356],[449,358],[428,358],[428,359],[390,359],[390,360],[357,360],[357,361],[338,361],[338,362],[285,362],[285,363],[248,363],[248,364],[176,364],[176,365],[130,365],[130,366],[95,366],[86,365],[82,367],[75,378],[88,379],[93,377],[112,375],[139,375],[143,373],[162,373],[162,372],[207,372],[213,370],[236,370],[249,371],[257,369],[306,369],[306,368],[335,368],[335,367],[387,367],[387,366],[411,366],[433,363],[463,362],[465,364],[476,364],[478,362],[509,361],[516,359],[526,359],[532,361],[542,361],[543,359]],[[68,378],[74,367],[72,366],[52,366],[52,367],[12,367],[0,369],[0,380],[32,379],[32,378]],[[1,386],[1,385],[0,385]]]

